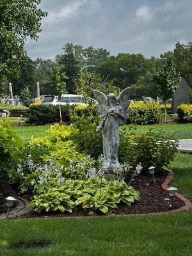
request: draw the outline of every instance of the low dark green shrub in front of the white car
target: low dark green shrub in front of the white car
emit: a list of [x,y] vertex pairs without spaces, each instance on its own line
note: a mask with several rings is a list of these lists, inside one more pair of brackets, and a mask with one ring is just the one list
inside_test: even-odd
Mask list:
[[[68,108],[70,106],[61,106],[61,115],[64,122],[68,122]],[[27,109],[30,124],[50,124],[60,122],[59,106],[41,106],[38,104],[31,104]]]

